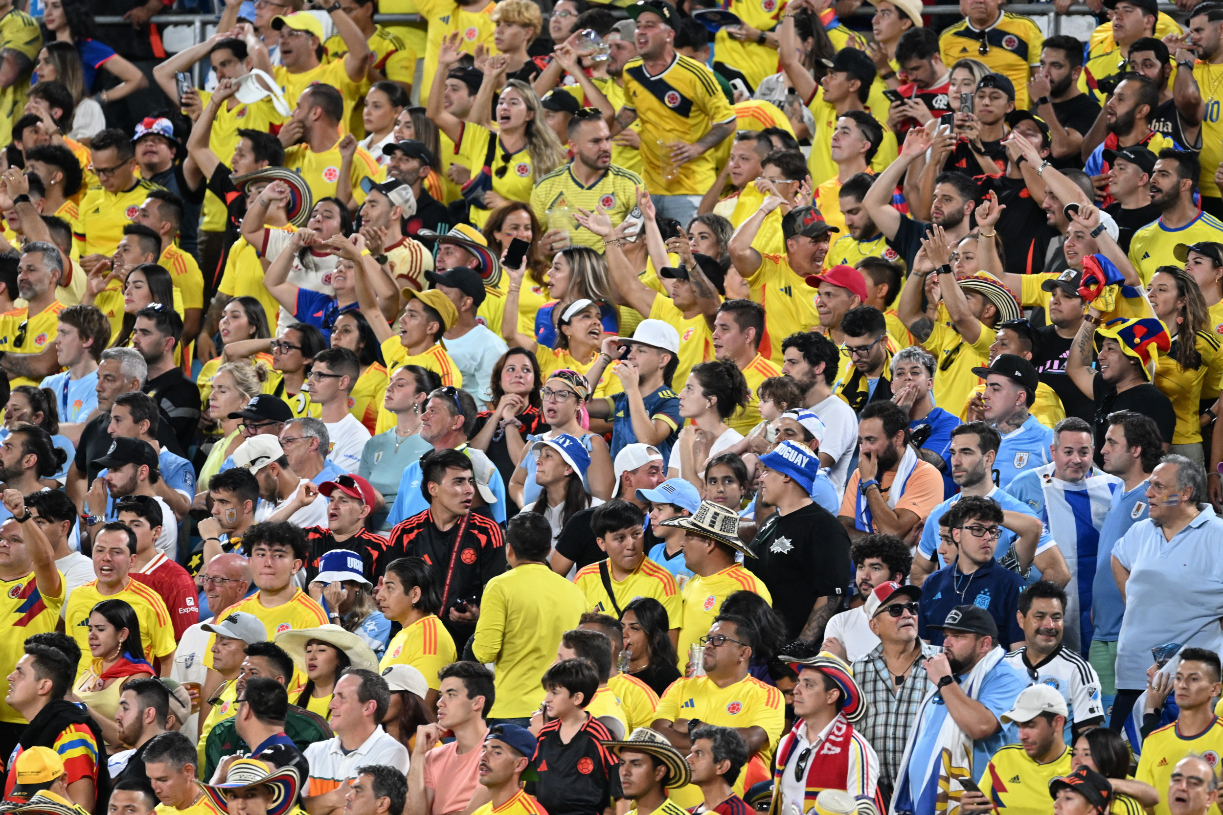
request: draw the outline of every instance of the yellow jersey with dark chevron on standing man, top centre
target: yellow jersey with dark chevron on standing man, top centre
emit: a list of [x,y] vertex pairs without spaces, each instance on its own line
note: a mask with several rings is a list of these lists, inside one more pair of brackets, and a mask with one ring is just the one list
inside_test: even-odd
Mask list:
[[[653,195],[703,196],[718,176],[712,151],[678,169],[673,181],[663,177],[660,157],[667,144],[692,144],[714,125],[735,120],[735,111],[718,87],[713,71],[680,54],[658,76],[649,76],[641,58],[624,66],[625,108],[641,120],[641,158],[646,188]],[[667,148],[668,157],[670,155]]]

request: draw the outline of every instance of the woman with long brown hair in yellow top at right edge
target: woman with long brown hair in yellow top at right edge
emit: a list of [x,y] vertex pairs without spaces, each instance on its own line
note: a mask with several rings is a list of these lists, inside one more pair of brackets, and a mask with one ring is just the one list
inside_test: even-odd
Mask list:
[[1202,384],[1208,372],[1218,377],[1223,371],[1223,350],[1207,330],[1206,300],[1194,275],[1175,266],[1156,269],[1147,285],[1147,300],[1172,337],[1172,352],[1159,355],[1153,379],[1177,411],[1169,452],[1205,464],[1197,419]]

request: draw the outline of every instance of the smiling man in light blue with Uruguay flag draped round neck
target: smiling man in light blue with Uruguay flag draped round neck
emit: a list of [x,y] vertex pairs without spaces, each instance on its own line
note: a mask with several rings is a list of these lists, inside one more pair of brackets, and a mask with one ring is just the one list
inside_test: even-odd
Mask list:
[[1044,519],[1066,560],[1065,616],[1070,627],[1065,641],[1076,653],[1086,652],[1091,644],[1091,584],[1099,527],[1121,485],[1117,476],[1095,469],[1093,453],[1091,425],[1077,416],[1063,419],[1053,428],[1053,463],[1021,472],[1007,486],[1007,492]]

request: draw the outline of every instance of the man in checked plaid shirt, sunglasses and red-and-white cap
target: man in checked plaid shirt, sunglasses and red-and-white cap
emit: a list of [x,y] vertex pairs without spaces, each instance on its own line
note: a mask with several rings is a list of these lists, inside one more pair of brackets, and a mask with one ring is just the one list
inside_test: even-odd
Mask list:
[[854,678],[862,690],[866,716],[857,724],[879,756],[879,792],[892,800],[909,728],[921,700],[932,688],[922,662],[943,649],[917,638],[917,600],[921,589],[883,582],[867,596],[866,618],[879,638],[874,650],[854,662]]

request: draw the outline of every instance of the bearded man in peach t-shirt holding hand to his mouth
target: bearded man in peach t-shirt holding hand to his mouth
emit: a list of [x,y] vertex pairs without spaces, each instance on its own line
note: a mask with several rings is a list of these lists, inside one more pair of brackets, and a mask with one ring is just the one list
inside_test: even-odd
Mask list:
[[909,411],[894,401],[862,409],[857,470],[845,485],[840,523],[851,538],[904,538],[943,497],[943,476],[909,443]]

